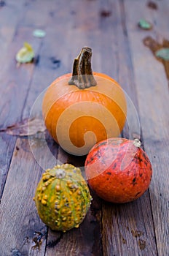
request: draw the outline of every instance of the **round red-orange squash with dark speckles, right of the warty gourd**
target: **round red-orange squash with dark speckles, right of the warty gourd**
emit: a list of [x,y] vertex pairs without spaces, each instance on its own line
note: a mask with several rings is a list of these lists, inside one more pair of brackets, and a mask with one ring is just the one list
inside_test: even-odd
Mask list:
[[127,203],[148,189],[152,165],[139,140],[110,138],[91,149],[85,173],[98,196],[112,203]]

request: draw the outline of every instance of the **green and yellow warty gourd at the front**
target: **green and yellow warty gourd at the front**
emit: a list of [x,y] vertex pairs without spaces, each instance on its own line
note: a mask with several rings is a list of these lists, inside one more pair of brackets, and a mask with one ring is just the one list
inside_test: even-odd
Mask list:
[[81,170],[69,164],[47,169],[34,197],[42,222],[52,230],[64,232],[79,227],[90,208],[91,199]]

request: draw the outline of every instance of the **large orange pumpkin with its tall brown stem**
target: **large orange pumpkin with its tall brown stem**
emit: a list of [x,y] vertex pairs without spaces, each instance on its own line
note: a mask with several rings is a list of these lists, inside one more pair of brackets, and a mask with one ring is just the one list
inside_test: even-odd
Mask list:
[[44,94],[44,123],[68,153],[85,155],[98,141],[117,137],[127,113],[125,94],[117,81],[91,69],[91,48],[82,48],[73,74],[63,75]]

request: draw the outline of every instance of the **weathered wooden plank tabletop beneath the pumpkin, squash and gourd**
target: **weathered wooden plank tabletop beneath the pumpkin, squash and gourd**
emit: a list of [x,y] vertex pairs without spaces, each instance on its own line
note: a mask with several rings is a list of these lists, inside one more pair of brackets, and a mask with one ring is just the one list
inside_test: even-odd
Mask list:
[[[161,48],[169,39],[169,1],[154,0],[0,1],[0,255],[169,255],[168,246],[168,61],[156,59],[145,38]],[[157,7],[157,8],[156,8]],[[144,18],[152,30],[138,27]],[[33,37],[34,29],[46,37]],[[18,64],[15,54],[29,42],[35,60]],[[93,203],[78,229],[52,232],[32,200],[43,167],[51,165],[42,132],[9,134],[7,127],[30,117],[39,94],[71,72],[83,46],[93,48],[93,70],[117,80],[138,112],[141,143],[153,166],[149,190],[132,203]],[[132,129],[132,127],[130,127]],[[127,134],[123,132],[123,136]],[[31,137],[32,138],[32,137]],[[52,138],[47,145],[60,162],[84,165]],[[39,162],[41,163],[40,166]]]

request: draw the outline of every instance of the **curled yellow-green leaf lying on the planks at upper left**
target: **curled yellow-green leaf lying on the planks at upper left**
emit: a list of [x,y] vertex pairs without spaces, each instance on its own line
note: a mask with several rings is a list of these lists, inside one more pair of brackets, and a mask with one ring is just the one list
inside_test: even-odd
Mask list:
[[31,62],[34,59],[34,50],[28,42],[24,42],[23,48],[21,48],[16,54],[16,60],[20,63]]

